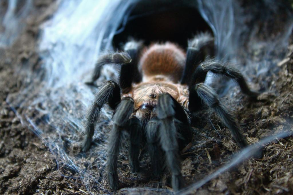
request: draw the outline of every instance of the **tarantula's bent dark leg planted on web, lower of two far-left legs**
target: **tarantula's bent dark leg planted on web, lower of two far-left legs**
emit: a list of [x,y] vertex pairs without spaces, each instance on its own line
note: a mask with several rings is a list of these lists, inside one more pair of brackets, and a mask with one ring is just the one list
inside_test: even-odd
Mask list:
[[85,136],[82,143],[82,151],[87,151],[91,146],[94,134],[95,122],[98,119],[101,108],[108,102],[109,106],[114,110],[120,102],[120,88],[114,81],[107,81],[103,84],[95,95],[95,100],[88,110],[86,116]]

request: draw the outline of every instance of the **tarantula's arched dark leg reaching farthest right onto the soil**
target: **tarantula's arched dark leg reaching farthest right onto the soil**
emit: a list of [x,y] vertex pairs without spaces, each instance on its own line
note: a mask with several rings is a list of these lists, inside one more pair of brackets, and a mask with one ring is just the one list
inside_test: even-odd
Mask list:
[[258,92],[254,92],[249,89],[243,75],[239,72],[239,70],[214,60],[206,60],[197,66],[195,72],[192,75],[192,83],[190,86],[204,82],[209,71],[214,74],[225,75],[231,79],[234,79],[239,84],[241,91],[252,98],[256,98],[259,95]]

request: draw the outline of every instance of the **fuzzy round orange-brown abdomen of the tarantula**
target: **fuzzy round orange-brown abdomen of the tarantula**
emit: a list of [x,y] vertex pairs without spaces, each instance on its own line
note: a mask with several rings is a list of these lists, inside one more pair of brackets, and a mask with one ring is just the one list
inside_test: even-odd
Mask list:
[[185,65],[185,53],[172,43],[153,44],[144,51],[139,71],[144,82],[156,75],[164,75],[174,83],[180,80]]

